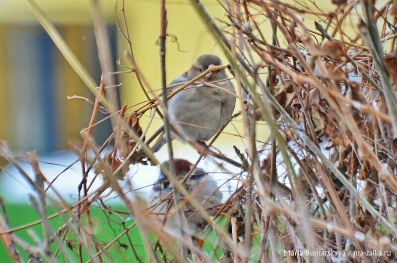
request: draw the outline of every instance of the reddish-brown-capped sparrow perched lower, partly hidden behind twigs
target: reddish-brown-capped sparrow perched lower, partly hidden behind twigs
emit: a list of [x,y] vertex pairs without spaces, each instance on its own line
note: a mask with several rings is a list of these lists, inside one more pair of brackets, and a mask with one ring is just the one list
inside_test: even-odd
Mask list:
[[[191,162],[184,159],[175,159],[174,163],[178,179],[184,178],[193,167]],[[163,165],[168,168],[168,161],[164,162]],[[222,192],[210,174],[201,168],[196,168],[186,180],[184,186],[189,194],[199,201],[202,208],[209,215],[212,216],[216,213],[216,207],[222,203]],[[177,234],[180,226],[177,223],[176,211],[174,210],[172,191],[173,188],[168,178],[160,171],[158,180],[153,186],[153,197],[151,198],[151,202],[149,200],[149,206],[155,207],[152,214],[157,219],[163,221],[166,217],[165,228],[167,231]],[[184,200],[183,197],[181,197],[181,202],[186,203],[183,211],[188,223],[188,234],[197,236],[198,231],[204,228],[207,222],[199,211],[196,211],[196,208]]]

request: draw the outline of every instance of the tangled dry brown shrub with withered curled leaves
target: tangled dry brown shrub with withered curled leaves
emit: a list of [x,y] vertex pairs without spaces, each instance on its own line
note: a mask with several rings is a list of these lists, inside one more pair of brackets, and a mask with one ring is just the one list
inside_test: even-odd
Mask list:
[[[139,198],[130,200],[125,193],[131,189],[122,189],[112,178],[123,162],[157,163],[147,147],[155,136],[145,141],[150,122],[138,122],[141,114],[158,110],[159,101],[149,97],[147,104],[134,109],[127,119],[116,118],[119,130],[115,131],[121,133],[115,132],[110,140],[114,141],[113,145],[119,145],[120,155],[116,154],[117,147],[105,160],[99,152],[96,154],[97,162],[102,165],[98,173],[105,178],[105,184],[94,195],[85,193],[82,201],[65,207],[70,215],[80,215],[70,220],[70,224],[80,226],[82,218],[89,222],[87,207],[111,188],[135,220],[121,236],[138,227],[144,240],[147,233],[157,238],[154,244],[144,242],[147,257],[152,261],[186,262],[187,258],[196,262],[394,261],[397,252],[397,63],[393,26],[396,2],[379,2],[375,7],[373,1],[367,0],[332,0],[330,12],[322,10],[315,1],[302,5],[297,1],[292,5],[278,0],[225,0],[216,3],[226,12],[220,22],[208,15],[199,0],[191,3],[223,47],[232,73],[240,82],[236,87],[241,88],[245,103],[233,117],[245,117],[242,120],[247,149],[234,147],[240,162],[209,152],[216,160],[241,168],[239,174],[231,173],[231,177],[243,175],[241,184],[225,203],[212,208],[216,209],[214,218],[202,213],[209,223],[207,228],[217,233],[216,246],[223,249],[223,256],[202,253],[197,249],[200,243],[196,238],[192,241],[185,237],[179,240],[183,243],[182,251],[191,253],[181,256],[180,247],[170,242],[170,234],[161,224],[147,222],[154,207],[144,207]],[[356,11],[363,20],[353,22],[357,27],[351,30],[350,19],[354,20]],[[164,13],[162,28],[165,28]],[[124,8],[122,17],[125,23]],[[130,73],[140,78],[145,90],[148,86],[134,64],[128,28],[120,23],[123,24],[117,22],[117,25],[130,43],[125,54],[131,64]],[[160,37],[160,49],[164,51],[161,40]],[[118,116],[109,107],[108,110]],[[255,139],[263,142],[266,138],[253,136],[252,124],[260,120],[266,121],[271,130],[272,136],[265,144],[256,143]],[[84,139],[88,141],[88,137]],[[92,142],[87,145],[96,151]],[[2,149],[2,155],[15,164],[4,145]],[[132,157],[127,158],[131,153]],[[82,160],[83,164],[88,162]],[[220,161],[215,162],[221,167]],[[89,167],[90,163],[86,165]],[[198,209],[200,203],[186,195],[183,183],[178,183],[171,174],[168,176],[175,192],[186,197],[184,202]],[[34,185],[42,193],[40,186]],[[176,197],[170,194],[163,201]],[[108,208],[105,211],[117,213]],[[217,220],[222,218],[226,218],[227,227],[220,227]],[[7,228],[4,222],[1,225]],[[91,260],[101,261],[108,247],[98,244],[89,224],[87,228],[85,241],[96,252]],[[66,225],[65,229],[71,228]],[[62,237],[65,229],[58,230],[57,238]],[[51,258],[42,247],[26,248],[14,235],[10,237],[32,255]],[[10,243],[9,239],[6,241]],[[60,241],[67,242],[62,238]],[[130,249],[135,254],[134,242]],[[86,243],[78,240],[78,244],[84,247]],[[9,251],[15,254],[14,250]],[[137,260],[140,261],[139,257]]]

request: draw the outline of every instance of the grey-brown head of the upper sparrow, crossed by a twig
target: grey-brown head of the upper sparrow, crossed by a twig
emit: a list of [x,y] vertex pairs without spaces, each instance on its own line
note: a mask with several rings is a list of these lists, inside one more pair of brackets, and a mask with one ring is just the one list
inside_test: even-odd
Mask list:
[[[220,65],[222,65],[222,62],[217,56],[210,54],[201,55],[189,69],[188,76],[190,79],[192,79],[207,70],[208,67]],[[210,82],[224,78],[226,78],[225,69],[220,69],[207,73],[203,79],[204,81]]]

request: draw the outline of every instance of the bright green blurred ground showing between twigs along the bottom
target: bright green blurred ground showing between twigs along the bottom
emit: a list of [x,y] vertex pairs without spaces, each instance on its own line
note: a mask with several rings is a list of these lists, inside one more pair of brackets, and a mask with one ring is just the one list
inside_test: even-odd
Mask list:
[[[120,211],[125,210],[124,207],[120,205],[115,205],[112,206],[111,208]],[[19,227],[39,219],[39,216],[36,214],[35,210],[27,204],[26,205],[6,204],[6,210],[9,217],[11,228]],[[48,214],[52,215],[54,213],[55,210],[49,207]],[[121,224],[123,219],[116,214],[109,215],[109,213],[107,212],[105,214],[104,211],[98,207],[92,207],[90,209],[90,214],[93,219],[95,237],[97,238],[99,244],[101,244],[101,247],[104,247],[107,244],[109,244],[112,240],[115,239],[117,235],[119,235],[124,230],[124,227]],[[122,215],[122,216],[123,218],[127,217],[127,215]],[[133,223],[132,221],[129,221],[126,223],[126,225],[131,225],[132,223]],[[50,225],[52,227],[53,232],[55,232],[63,224],[64,221],[59,217],[50,220]],[[225,219],[221,219],[219,220],[219,224],[222,227],[226,228],[225,224],[227,224],[227,221]],[[32,230],[40,238],[42,237],[41,225],[36,225],[28,229]],[[19,230],[15,233],[19,238],[21,238],[25,242],[34,245],[33,240],[27,233],[28,229]],[[134,249],[137,255],[142,259],[143,262],[145,262],[146,254],[142,246],[142,241],[138,229],[136,227],[133,227],[128,233],[130,235],[132,244],[134,245]],[[209,255],[214,262],[218,261],[218,259],[222,256],[222,250],[220,248],[217,248],[216,250],[214,249],[215,244],[217,242],[216,233],[214,231],[207,230],[206,232],[203,233],[203,235],[200,238],[204,238],[203,251],[207,255]],[[70,249],[65,245],[64,242],[63,246],[66,253],[69,255],[72,262],[78,262],[78,253],[76,246],[77,241],[75,235],[71,233],[71,231],[69,231],[66,235],[66,239],[70,241],[70,244],[72,246],[74,246],[72,249]],[[156,240],[153,236],[151,236],[151,241],[153,244],[156,243]],[[124,235],[122,238],[119,239],[119,242],[115,242],[107,250],[107,255],[105,253],[102,254],[103,262],[137,262],[127,236]],[[260,244],[260,236],[258,234],[256,235],[253,241],[253,247],[252,247],[252,255],[254,259],[257,259],[258,257],[259,244]],[[58,245],[53,243],[51,247],[52,252],[55,252],[57,247]],[[28,255],[26,255],[26,253],[22,251],[21,248],[17,247],[17,249],[23,259],[23,262],[26,262],[28,260]],[[92,251],[94,252],[93,248]],[[157,255],[160,257],[159,251],[157,251]],[[112,258],[112,260],[110,260],[110,258]],[[11,263],[11,260],[9,259],[8,254],[1,242],[0,242],[0,259],[1,259],[0,263]],[[58,262],[67,262],[67,258],[63,257],[61,253],[58,253],[56,259]],[[87,260],[88,260],[88,256],[86,254],[86,250],[83,248],[83,262],[86,262]]]

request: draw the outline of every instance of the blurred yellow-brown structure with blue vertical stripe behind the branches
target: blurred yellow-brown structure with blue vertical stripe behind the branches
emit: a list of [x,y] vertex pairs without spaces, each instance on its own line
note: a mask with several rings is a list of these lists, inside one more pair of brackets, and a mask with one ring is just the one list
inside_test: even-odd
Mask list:
[[[110,18],[114,3],[103,5]],[[72,52],[99,79],[95,37],[89,1],[38,1]],[[0,1],[0,138],[14,151],[47,153],[67,148],[68,139],[80,139],[92,107],[67,96],[93,96],[68,65],[37,22],[27,1]],[[114,58],[117,37],[108,26]],[[103,117],[102,117],[103,118]],[[99,130],[101,130],[99,132]],[[94,131],[99,141],[111,131],[109,123]]]

